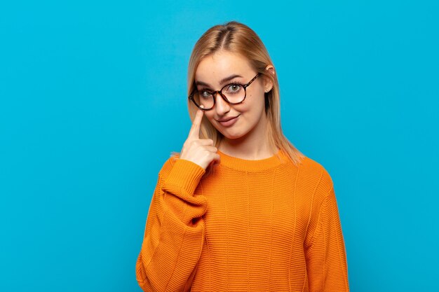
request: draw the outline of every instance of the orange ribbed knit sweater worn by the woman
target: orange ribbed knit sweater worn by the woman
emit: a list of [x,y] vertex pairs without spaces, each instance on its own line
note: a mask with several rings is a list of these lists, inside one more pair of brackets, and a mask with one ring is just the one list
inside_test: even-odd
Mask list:
[[136,279],[144,291],[349,291],[332,179],[283,151],[205,169],[168,158],[149,206]]

